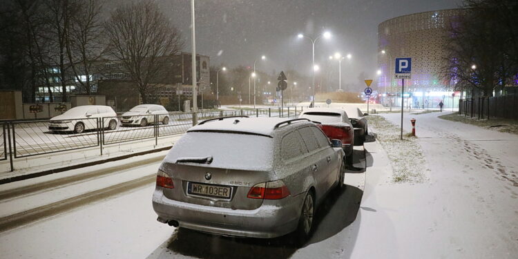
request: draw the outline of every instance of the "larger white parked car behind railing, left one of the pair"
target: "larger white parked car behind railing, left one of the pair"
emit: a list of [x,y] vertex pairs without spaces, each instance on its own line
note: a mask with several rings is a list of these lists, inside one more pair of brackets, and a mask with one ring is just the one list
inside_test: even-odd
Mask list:
[[[83,133],[86,130],[97,129],[97,118],[103,118],[104,128],[117,128],[117,113],[110,106],[85,105],[71,108],[61,115],[52,117],[48,123],[50,131],[73,131]],[[101,122],[103,123],[103,122]]]

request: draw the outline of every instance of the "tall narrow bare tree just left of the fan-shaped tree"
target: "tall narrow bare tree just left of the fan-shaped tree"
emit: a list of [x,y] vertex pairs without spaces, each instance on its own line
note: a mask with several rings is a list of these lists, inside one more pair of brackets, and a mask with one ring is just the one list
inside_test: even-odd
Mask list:
[[75,81],[90,95],[95,63],[103,55],[102,4],[99,0],[76,1],[66,31],[66,55]]

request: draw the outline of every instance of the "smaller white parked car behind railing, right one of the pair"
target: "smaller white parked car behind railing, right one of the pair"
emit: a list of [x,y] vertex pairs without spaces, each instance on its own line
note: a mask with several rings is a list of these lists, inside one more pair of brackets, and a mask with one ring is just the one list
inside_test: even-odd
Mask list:
[[155,123],[155,115],[158,115],[158,122],[169,124],[169,112],[162,105],[141,104],[131,108],[130,111],[122,114],[122,125],[147,126]]

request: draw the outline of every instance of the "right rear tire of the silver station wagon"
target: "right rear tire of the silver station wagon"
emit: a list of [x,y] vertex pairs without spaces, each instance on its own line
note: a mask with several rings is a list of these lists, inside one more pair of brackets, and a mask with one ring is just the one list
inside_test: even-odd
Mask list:
[[303,247],[309,239],[309,236],[311,236],[315,209],[315,195],[312,191],[308,191],[302,209],[300,210],[300,218],[296,230],[296,242],[298,247]]

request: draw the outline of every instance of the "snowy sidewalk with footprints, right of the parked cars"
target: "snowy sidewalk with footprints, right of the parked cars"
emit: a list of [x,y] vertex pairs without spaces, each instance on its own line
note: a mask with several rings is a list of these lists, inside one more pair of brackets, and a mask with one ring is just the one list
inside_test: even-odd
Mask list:
[[[444,114],[444,113],[443,113]],[[376,144],[352,258],[515,258],[518,136],[437,118],[417,119],[428,181],[394,184]],[[383,115],[394,124],[401,115]],[[405,130],[410,130],[405,114]],[[380,170],[376,170],[376,168]],[[384,169],[383,169],[384,168]]]

